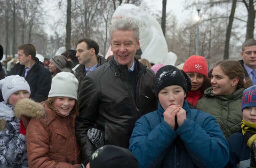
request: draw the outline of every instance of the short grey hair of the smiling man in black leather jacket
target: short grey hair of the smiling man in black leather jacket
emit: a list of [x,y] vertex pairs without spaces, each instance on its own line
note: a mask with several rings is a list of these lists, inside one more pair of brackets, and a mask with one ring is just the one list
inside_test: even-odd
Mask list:
[[130,18],[119,18],[110,26],[110,37],[112,39],[112,33],[116,30],[133,30],[136,41],[139,40],[140,31],[138,24]]

